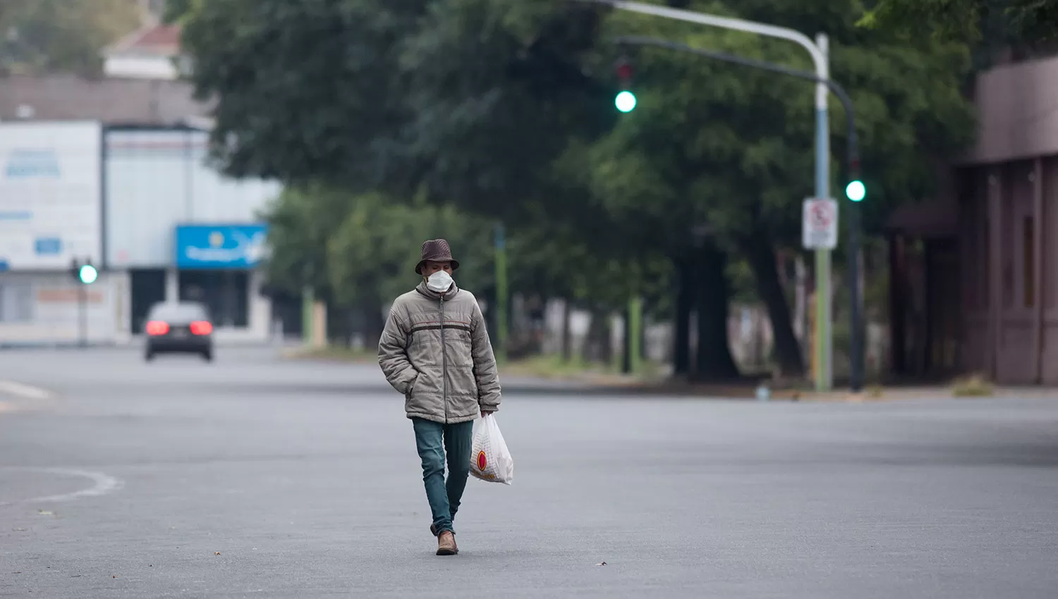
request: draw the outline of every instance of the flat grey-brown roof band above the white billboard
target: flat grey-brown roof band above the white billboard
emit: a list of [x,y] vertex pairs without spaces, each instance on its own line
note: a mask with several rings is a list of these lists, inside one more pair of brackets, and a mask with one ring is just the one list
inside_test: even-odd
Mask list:
[[[0,77],[0,120],[32,109],[38,120],[102,120],[107,125],[178,125],[209,115],[189,83],[138,78],[87,79],[77,75]],[[24,109],[22,109],[24,112]]]

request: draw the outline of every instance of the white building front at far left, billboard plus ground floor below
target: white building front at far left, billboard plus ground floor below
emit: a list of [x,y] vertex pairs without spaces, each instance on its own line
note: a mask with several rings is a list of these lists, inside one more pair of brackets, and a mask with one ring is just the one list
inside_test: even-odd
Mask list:
[[[0,125],[0,345],[79,338],[69,269],[102,256],[102,148],[98,123]],[[91,341],[113,330],[111,282],[101,277],[85,298]]]

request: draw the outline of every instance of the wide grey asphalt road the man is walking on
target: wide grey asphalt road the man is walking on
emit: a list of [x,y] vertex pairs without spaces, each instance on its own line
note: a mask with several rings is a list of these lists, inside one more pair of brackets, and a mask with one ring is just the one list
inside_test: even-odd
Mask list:
[[470,481],[441,558],[377,368],[2,352],[0,596],[1058,596],[1058,398],[508,382],[514,485]]

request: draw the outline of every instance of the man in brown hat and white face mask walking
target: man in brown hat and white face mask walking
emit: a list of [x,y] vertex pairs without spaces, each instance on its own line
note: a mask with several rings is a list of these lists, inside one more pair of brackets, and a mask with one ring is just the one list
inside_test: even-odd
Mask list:
[[470,473],[474,420],[498,410],[500,400],[485,317],[474,295],[453,282],[457,268],[449,242],[423,243],[415,266],[422,280],[394,302],[379,341],[379,366],[404,394],[415,429],[438,556],[459,553],[452,521]]

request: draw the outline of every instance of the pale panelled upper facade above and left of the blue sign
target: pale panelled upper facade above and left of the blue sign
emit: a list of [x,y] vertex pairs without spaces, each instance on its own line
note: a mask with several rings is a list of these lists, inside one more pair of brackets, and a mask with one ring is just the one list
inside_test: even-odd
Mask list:
[[235,181],[205,164],[202,131],[107,131],[107,261],[112,268],[165,267],[179,223],[253,223],[280,186]]

